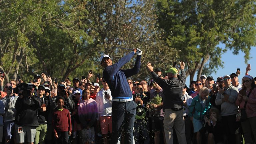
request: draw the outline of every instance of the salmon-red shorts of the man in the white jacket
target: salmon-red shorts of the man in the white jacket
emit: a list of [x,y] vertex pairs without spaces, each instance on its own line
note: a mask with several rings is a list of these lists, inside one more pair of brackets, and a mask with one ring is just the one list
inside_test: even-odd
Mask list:
[[112,133],[112,117],[101,116],[99,120],[100,120],[101,134],[108,134],[108,131]]

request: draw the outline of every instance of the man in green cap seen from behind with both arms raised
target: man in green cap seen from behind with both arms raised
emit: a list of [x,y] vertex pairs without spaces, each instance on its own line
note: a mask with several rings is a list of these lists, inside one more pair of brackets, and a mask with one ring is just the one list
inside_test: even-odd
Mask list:
[[186,82],[186,74],[184,71],[185,63],[180,62],[180,79],[177,78],[178,70],[176,68],[170,68],[165,73],[168,76],[168,79],[161,79],[158,75],[153,71],[153,67],[151,63],[147,63],[147,67],[156,81],[156,83],[162,87],[164,97],[163,97],[163,105],[165,109],[164,116],[164,133],[167,144],[173,143],[173,129],[175,128],[177,138],[180,144],[186,144],[185,139],[185,123],[183,119],[183,98],[182,98],[182,90],[185,86]]

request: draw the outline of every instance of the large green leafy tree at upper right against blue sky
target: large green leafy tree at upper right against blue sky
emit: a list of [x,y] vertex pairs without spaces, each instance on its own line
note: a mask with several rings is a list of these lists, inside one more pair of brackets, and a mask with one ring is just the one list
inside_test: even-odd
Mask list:
[[[178,60],[187,64],[190,81],[197,73],[216,72],[223,67],[221,54],[227,49],[238,54],[255,46],[256,5],[252,0],[157,0],[159,28],[164,40],[180,50]],[[225,44],[221,49],[218,45]],[[206,65],[206,62],[208,64]]]

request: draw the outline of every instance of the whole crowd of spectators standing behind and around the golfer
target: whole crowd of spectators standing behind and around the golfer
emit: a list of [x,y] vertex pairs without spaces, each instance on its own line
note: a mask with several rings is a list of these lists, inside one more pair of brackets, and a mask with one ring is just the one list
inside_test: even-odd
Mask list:
[[[127,79],[137,104],[134,143],[240,144],[243,138],[255,143],[256,85],[250,65],[245,76],[239,70],[216,79],[201,75],[189,87],[184,66],[162,71],[148,63],[150,80]],[[0,143],[110,143],[113,99],[100,74],[89,71],[87,77],[59,83],[45,73],[27,83],[4,79],[1,71]],[[162,101],[152,103],[155,97]],[[237,122],[239,109],[247,118]],[[117,143],[127,143],[124,135],[122,129]]]

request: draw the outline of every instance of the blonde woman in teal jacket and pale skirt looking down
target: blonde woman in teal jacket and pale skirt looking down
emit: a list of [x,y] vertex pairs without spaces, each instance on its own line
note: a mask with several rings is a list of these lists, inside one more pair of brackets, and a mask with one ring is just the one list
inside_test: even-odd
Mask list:
[[202,142],[199,130],[203,127],[205,114],[211,108],[210,99],[208,88],[203,87],[200,89],[198,95],[193,98],[189,107],[189,117],[193,121],[197,144],[201,144]]

